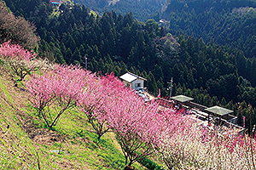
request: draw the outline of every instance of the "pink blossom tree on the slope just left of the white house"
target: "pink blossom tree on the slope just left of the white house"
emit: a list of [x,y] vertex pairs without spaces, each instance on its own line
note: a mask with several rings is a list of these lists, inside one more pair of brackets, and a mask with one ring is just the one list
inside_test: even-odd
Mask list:
[[107,100],[113,100],[122,92],[124,84],[113,74],[105,77],[90,77],[86,87],[79,94],[79,108],[88,118],[98,139],[109,130]]

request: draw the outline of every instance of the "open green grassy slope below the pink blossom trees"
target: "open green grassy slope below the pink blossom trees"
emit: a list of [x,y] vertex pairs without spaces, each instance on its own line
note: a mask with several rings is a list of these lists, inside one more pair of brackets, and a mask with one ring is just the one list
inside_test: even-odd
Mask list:
[[[28,105],[26,91],[15,87],[0,68],[0,169],[123,169],[125,157],[113,133],[98,140],[76,108],[46,128]],[[144,169],[135,164],[136,169]]]

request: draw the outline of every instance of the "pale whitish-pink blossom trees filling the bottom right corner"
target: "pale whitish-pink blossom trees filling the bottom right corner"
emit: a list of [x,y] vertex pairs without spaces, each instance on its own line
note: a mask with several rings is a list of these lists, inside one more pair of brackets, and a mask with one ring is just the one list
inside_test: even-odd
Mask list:
[[[166,133],[157,153],[169,169],[255,169],[256,142],[228,128],[198,127],[193,122]],[[171,134],[171,135],[170,135]]]

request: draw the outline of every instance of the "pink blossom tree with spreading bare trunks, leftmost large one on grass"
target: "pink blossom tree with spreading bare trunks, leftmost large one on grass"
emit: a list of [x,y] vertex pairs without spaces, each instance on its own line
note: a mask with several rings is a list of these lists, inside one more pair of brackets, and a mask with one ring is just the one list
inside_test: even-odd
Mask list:
[[28,99],[48,127],[55,126],[67,109],[77,105],[84,78],[89,74],[79,66],[55,65],[54,70],[26,81]]

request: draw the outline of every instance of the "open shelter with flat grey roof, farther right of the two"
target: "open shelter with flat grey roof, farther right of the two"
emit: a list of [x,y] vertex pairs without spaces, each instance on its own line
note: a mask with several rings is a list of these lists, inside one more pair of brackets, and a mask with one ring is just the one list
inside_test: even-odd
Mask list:
[[223,107],[220,107],[218,105],[212,106],[210,108],[207,108],[205,111],[208,112],[208,114],[211,114],[213,116],[218,116],[218,123],[220,124],[221,118],[225,120],[229,120],[229,114],[232,113],[233,111],[229,109],[225,109]]

